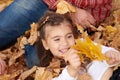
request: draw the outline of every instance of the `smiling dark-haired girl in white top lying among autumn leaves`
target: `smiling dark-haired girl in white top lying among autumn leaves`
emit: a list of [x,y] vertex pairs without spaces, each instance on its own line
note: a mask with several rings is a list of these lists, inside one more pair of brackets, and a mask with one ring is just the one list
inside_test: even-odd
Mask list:
[[[48,13],[38,21],[38,31],[40,33],[37,41],[40,66],[48,66],[53,57],[64,59],[69,64],[58,77],[52,80],[79,80],[80,57],[77,50],[71,49],[71,46],[75,45],[78,32],[71,19],[66,15]],[[108,63],[115,64],[120,61],[119,52],[113,48],[102,46],[102,52],[110,58]],[[87,70],[93,80],[108,80],[112,75],[112,69],[104,61],[91,62]]]

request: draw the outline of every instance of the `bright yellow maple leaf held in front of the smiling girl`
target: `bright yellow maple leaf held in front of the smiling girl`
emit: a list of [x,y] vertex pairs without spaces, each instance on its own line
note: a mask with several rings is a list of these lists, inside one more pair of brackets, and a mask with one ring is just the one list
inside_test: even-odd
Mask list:
[[86,57],[91,60],[107,60],[107,58],[102,54],[101,45],[95,44],[88,36],[85,36],[84,40],[77,39],[76,45],[72,46],[72,48],[78,50],[80,55],[85,54]]

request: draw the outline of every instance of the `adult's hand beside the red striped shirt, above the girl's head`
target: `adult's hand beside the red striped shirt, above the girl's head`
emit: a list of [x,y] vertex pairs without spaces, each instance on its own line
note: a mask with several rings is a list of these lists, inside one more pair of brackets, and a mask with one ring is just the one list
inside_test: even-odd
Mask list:
[[88,28],[90,25],[95,25],[94,17],[84,9],[76,8],[75,13],[70,13],[72,20],[80,24],[83,28]]

